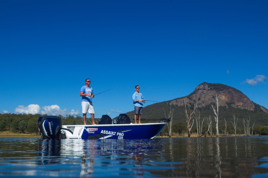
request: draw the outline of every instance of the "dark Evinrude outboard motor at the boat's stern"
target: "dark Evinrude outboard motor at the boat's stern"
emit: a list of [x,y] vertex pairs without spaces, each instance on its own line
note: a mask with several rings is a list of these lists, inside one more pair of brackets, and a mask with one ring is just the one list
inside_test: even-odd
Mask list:
[[60,139],[61,117],[44,116],[38,118],[38,129],[43,139]]

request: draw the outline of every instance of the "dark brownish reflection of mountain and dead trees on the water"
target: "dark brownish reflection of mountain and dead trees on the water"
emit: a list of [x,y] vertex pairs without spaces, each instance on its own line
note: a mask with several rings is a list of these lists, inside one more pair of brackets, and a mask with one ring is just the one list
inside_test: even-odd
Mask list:
[[169,149],[166,159],[184,163],[172,169],[177,177],[250,177],[259,164],[257,155],[268,155],[263,143],[261,149],[266,151],[260,151],[249,137],[168,138],[165,141],[169,143],[164,147]]

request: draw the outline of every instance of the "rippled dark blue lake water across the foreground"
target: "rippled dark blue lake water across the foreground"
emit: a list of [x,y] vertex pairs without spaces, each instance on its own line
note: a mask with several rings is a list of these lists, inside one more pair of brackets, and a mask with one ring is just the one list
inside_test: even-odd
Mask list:
[[268,177],[268,137],[0,138],[0,177]]

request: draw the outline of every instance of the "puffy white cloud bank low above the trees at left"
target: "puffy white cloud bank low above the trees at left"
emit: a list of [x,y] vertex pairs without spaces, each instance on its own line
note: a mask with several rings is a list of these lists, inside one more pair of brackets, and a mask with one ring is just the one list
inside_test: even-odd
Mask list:
[[[4,112],[4,111],[1,111]],[[6,111],[8,112],[8,111]],[[74,110],[72,109],[71,112],[68,112],[67,109],[60,109],[60,107],[58,105],[51,105],[51,106],[43,106],[42,110],[40,108],[40,106],[38,104],[30,104],[29,106],[23,106],[23,105],[19,105],[16,109],[15,112],[17,114],[23,114],[23,113],[30,113],[30,114],[47,114],[47,115],[59,115],[61,114],[62,116],[66,116],[66,115],[79,115],[80,112],[78,110]]]

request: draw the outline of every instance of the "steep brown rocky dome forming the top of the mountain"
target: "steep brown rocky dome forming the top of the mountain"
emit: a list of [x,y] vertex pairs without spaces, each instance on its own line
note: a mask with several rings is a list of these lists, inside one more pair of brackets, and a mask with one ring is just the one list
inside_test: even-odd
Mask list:
[[[253,111],[255,106],[253,102],[245,96],[241,91],[223,84],[210,84],[202,83],[198,85],[195,90],[188,96],[176,98],[170,101],[171,104],[177,106],[184,106],[184,101],[187,104],[194,103],[194,99],[198,99],[198,108],[202,108],[207,105],[213,104],[216,105],[215,97],[219,96],[219,106],[232,106],[234,108],[247,109]],[[263,107],[262,107],[263,108]],[[264,112],[267,112],[267,109],[262,109]]]

